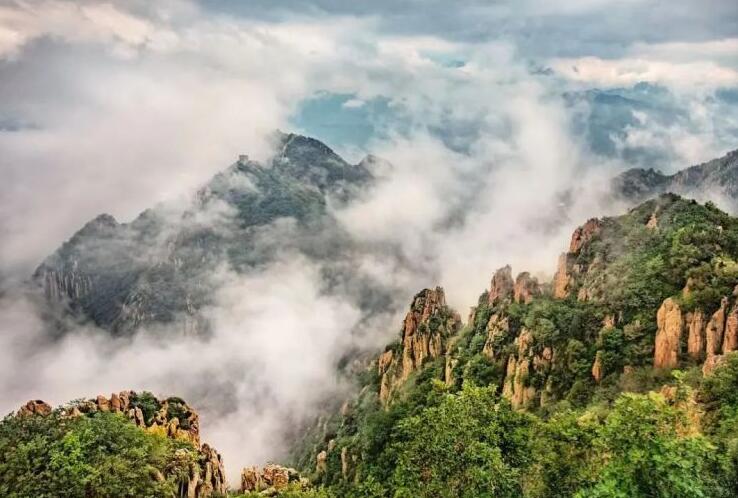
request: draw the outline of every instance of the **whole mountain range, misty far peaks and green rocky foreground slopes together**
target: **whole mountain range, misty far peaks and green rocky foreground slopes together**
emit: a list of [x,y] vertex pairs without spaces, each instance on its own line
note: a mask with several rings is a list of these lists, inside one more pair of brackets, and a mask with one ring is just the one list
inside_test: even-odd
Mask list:
[[[298,135],[274,140],[267,163],[241,156],[184,209],[90,221],[36,270],[39,292],[113,335],[167,325],[206,337],[222,275],[289,250],[319,261],[326,289],[353,293],[367,315],[392,309],[392,289],[351,271],[376,248],[333,214],[387,164],[351,165]],[[384,350],[346,352],[354,389],[285,429],[291,467],[247,467],[239,492],[736,496],[738,218],[717,207],[734,212],[736,174],[738,151],[673,175],[626,171],[612,196],[630,209],[582,220],[551,279],[502,266],[465,317],[443,288],[421,290]],[[100,496],[229,493],[222,458],[176,397],[34,400],[0,423],[0,450],[7,496],[80,482]],[[108,468],[115,477],[100,478]],[[128,491],[111,494],[119,485]]]

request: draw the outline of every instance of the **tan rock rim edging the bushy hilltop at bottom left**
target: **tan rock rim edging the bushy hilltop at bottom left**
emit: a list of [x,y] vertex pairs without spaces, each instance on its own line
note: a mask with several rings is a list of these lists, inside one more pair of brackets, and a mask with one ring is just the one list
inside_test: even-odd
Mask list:
[[[156,408],[147,419],[144,409],[149,412]],[[18,410],[19,416],[48,415],[51,406],[41,400],[29,401]],[[67,417],[83,417],[98,412],[120,413],[131,423],[148,432],[166,437],[183,439],[192,444],[196,456],[186,448],[178,449],[175,458],[189,462],[186,476],[180,476],[181,496],[187,498],[208,498],[224,495],[227,491],[225,469],[220,454],[208,444],[200,444],[200,425],[197,413],[180,398],[158,400],[149,393],[122,391],[113,393],[110,398],[99,395],[94,399],[76,401],[63,409]],[[166,472],[166,469],[164,469]],[[162,477],[164,474],[161,475]]]

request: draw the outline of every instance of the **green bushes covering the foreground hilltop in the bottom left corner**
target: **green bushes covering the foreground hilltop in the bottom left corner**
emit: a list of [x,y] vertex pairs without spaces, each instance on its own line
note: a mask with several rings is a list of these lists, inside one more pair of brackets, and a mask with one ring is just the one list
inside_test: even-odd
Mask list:
[[174,496],[195,455],[189,443],[146,432],[121,414],[10,415],[0,422],[0,496]]

